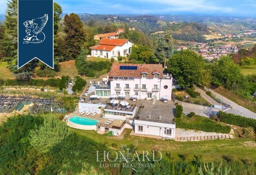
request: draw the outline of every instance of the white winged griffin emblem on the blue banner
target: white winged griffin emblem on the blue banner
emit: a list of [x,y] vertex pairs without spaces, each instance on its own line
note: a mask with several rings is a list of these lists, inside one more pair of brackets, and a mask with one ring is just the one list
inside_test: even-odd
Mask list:
[[36,19],[25,21],[23,25],[26,27],[27,36],[23,39],[23,44],[39,44],[45,40],[45,34],[42,32],[48,21],[48,14]]

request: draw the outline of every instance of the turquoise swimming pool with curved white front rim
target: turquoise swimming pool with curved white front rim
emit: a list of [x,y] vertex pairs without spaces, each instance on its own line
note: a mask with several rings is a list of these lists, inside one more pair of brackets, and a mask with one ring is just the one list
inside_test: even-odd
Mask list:
[[94,119],[74,116],[68,120],[67,125],[77,129],[96,130],[97,122],[98,121]]

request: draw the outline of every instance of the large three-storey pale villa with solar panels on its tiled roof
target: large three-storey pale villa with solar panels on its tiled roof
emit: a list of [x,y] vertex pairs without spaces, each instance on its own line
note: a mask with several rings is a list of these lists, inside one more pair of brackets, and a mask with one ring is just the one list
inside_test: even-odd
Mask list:
[[164,75],[161,64],[113,63],[110,73],[110,94],[127,99],[171,100],[172,77]]

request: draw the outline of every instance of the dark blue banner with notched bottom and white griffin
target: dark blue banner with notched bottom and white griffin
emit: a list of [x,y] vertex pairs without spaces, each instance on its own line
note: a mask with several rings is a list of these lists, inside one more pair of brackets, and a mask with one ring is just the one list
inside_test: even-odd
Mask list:
[[53,69],[53,0],[18,0],[18,69],[39,59]]

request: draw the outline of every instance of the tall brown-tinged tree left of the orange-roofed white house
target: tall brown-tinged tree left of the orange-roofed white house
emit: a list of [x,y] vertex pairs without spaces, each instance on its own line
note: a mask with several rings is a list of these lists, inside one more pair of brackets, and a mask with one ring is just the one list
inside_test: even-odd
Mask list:
[[85,30],[78,15],[71,13],[64,17],[64,32],[66,49],[64,57],[66,60],[75,59],[85,42]]

